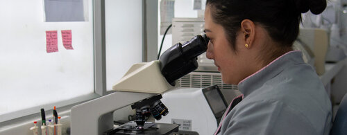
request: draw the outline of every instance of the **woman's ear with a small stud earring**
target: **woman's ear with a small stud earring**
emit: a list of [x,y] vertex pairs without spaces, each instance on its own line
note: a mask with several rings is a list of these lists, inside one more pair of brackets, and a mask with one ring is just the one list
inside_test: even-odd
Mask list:
[[244,35],[244,42],[248,48],[252,47],[255,38],[255,24],[250,19],[244,19],[241,22],[241,33]]

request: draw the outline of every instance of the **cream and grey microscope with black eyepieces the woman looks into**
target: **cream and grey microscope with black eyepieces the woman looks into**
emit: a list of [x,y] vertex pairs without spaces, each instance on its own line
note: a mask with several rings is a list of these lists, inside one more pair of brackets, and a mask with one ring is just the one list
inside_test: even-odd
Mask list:
[[[71,134],[170,134],[178,125],[149,123],[160,120],[169,109],[160,101],[161,93],[177,87],[176,80],[198,68],[197,57],[208,48],[210,39],[197,35],[164,51],[159,60],[134,64],[112,89],[116,92],[71,109]],[[131,105],[135,121],[113,127],[112,112]],[[83,114],[83,115],[81,115]]]

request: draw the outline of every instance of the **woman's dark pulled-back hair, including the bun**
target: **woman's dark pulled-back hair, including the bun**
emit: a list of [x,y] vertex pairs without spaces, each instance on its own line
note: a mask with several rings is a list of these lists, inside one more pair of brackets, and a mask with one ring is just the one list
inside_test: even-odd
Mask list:
[[290,47],[298,37],[301,13],[311,10],[318,15],[326,7],[325,0],[207,0],[214,23],[226,30],[228,42],[235,49],[241,22],[250,19],[262,25],[271,39]]

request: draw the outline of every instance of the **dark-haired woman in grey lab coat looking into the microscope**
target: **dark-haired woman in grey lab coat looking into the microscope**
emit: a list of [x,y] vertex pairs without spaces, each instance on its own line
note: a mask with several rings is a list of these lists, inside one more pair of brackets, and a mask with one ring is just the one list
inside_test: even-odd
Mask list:
[[223,82],[243,93],[216,134],[329,133],[330,99],[301,51],[291,48],[301,13],[319,14],[325,6],[325,0],[206,1],[206,57]]

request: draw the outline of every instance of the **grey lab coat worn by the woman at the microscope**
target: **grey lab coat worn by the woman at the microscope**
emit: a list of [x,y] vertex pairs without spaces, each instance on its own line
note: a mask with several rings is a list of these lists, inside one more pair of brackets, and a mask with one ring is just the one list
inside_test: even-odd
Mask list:
[[239,82],[244,98],[225,118],[219,134],[328,134],[330,99],[301,51],[278,57]]

